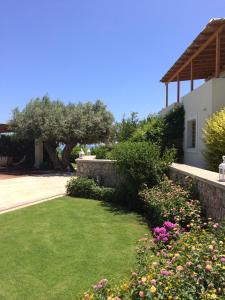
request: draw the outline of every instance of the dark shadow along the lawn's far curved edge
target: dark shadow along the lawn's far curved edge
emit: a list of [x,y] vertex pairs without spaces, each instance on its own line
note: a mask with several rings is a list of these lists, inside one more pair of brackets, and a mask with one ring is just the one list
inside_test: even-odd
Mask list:
[[107,211],[115,214],[115,215],[125,215],[130,213],[135,213],[137,215],[138,222],[142,225],[146,225],[150,228],[150,222],[138,211],[129,209],[125,205],[121,205],[115,202],[105,202],[101,201],[101,206]]

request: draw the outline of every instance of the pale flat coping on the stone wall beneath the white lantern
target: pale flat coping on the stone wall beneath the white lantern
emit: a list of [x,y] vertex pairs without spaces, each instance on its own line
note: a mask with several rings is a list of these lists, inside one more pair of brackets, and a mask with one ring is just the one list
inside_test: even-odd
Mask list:
[[208,171],[205,169],[192,167],[185,164],[173,163],[170,166],[171,170],[178,171],[186,176],[196,178],[198,180],[207,182],[215,187],[225,190],[225,182],[219,181],[219,173]]

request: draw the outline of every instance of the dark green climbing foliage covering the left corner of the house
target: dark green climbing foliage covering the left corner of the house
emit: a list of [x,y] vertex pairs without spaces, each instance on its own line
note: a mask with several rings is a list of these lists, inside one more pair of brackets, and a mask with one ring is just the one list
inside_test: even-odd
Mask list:
[[184,106],[177,105],[164,116],[164,147],[174,147],[178,162],[183,161]]

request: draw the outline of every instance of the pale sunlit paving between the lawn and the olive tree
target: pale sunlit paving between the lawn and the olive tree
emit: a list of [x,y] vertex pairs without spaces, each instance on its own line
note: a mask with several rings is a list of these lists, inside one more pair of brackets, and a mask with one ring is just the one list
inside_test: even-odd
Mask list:
[[70,175],[30,175],[0,180],[0,213],[65,194]]

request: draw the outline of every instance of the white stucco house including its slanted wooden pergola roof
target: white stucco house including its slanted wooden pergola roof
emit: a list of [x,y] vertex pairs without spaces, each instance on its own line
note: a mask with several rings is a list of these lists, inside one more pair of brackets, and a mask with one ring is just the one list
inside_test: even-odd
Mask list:
[[[166,108],[161,113],[173,106],[168,105],[170,82],[177,82],[177,102],[184,105],[185,164],[206,167],[202,129],[214,112],[225,107],[224,71],[225,19],[212,19],[161,79],[166,84]],[[194,89],[195,79],[204,79],[205,83]],[[190,93],[180,97],[180,82],[185,80],[190,80]]]

